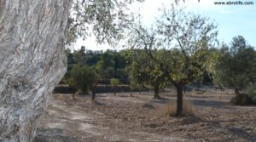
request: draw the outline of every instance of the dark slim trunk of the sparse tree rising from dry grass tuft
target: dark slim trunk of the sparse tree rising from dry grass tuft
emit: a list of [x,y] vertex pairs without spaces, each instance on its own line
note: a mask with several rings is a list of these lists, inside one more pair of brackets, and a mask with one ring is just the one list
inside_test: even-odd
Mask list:
[[177,112],[176,116],[183,116],[183,86],[177,85]]

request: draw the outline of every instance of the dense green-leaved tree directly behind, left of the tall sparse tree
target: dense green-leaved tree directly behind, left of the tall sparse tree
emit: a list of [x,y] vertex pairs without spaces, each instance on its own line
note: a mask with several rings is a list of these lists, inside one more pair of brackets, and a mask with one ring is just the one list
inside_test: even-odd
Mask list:
[[[160,56],[159,51],[154,55]],[[155,64],[146,53],[146,50],[135,50],[131,54],[131,65],[129,66],[129,76],[132,88],[147,86],[154,88],[154,99],[160,99],[160,88],[167,86],[166,77],[160,71],[160,65]],[[136,85],[137,84],[137,85]]]

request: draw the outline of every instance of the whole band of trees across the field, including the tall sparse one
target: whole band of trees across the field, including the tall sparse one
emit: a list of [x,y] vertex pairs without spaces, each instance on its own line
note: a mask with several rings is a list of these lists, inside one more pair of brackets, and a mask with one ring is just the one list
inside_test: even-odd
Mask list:
[[97,82],[110,78],[126,78],[131,88],[150,86],[155,99],[160,99],[160,88],[172,85],[177,89],[177,116],[182,116],[183,88],[208,76],[218,87],[234,88],[235,103],[242,104],[243,91],[253,88],[256,77],[255,50],[241,36],[230,45],[219,44],[217,36],[217,26],[206,17],[162,9],[151,28],[134,22],[126,50],[67,51],[67,82],[74,92],[90,89],[93,99]]

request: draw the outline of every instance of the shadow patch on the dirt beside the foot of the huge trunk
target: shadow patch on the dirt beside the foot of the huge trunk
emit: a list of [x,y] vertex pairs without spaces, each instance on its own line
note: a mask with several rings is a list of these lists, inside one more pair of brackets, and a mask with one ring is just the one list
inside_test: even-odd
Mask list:
[[32,142],[76,142],[72,136],[65,136],[61,128],[38,128],[36,137]]

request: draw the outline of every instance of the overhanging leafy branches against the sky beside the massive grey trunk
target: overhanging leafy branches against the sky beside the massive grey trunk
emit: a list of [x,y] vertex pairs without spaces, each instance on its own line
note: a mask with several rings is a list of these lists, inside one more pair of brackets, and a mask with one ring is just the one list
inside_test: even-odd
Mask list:
[[131,3],[143,0],[73,0],[69,17],[67,43],[78,37],[96,36],[97,43],[115,44],[125,37],[125,29],[130,28]]

